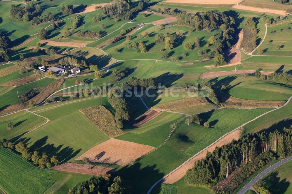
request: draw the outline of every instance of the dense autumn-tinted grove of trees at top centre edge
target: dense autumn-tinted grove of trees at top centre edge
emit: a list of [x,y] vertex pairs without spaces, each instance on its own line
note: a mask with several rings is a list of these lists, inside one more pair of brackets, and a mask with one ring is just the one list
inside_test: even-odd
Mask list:
[[129,21],[133,18],[135,13],[148,7],[148,4],[149,0],[141,0],[137,6],[131,7],[127,1],[113,0],[102,8],[102,13],[109,17],[113,17],[115,21]]

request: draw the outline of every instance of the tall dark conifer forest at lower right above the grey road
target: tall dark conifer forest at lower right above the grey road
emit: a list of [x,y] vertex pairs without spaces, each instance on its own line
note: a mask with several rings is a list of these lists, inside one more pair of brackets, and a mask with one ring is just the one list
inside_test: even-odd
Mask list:
[[[206,158],[187,171],[185,181],[187,184],[211,185],[218,193],[230,193],[275,156],[284,158],[291,154],[292,126],[284,128],[283,132],[248,134],[216,147],[212,153],[207,152]],[[227,179],[232,172],[234,176]]]

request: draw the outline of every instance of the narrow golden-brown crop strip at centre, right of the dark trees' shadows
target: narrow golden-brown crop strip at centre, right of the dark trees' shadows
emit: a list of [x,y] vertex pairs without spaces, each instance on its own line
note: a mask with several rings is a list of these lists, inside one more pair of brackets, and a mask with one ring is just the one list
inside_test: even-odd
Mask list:
[[198,106],[198,105],[206,105],[210,104],[208,100],[205,97],[198,97],[198,98],[186,98],[183,100],[178,100],[170,103],[165,103],[162,105],[153,106],[152,109],[158,109],[158,110],[177,110],[192,106]]

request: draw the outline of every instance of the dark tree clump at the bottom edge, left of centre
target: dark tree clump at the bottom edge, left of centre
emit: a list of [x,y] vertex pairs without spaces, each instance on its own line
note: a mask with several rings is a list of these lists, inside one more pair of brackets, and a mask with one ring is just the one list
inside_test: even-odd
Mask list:
[[131,194],[133,193],[130,181],[125,181],[121,177],[112,177],[111,174],[103,174],[98,177],[91,177],[82,182],[77,188],[70,188],[68,194],[79,193],[103,193],[103,194]]

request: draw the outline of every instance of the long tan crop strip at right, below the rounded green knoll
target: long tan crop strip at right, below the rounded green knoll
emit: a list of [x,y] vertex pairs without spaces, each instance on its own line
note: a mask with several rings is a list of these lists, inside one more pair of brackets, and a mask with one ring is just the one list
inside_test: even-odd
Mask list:
[[227,100],[220,104],[227,108],[267,108],[279,107],[284,103],[286,103],[284,100],[246,100],[229,96]]

